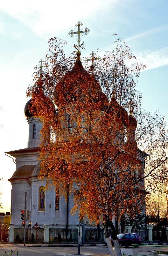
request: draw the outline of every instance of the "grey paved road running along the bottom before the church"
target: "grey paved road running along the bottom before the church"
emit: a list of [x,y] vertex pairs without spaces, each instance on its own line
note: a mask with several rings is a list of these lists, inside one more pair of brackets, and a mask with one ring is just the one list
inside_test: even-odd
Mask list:
[[[78,247],[23,247],[23,246],[18,246],[12,247],[0,247],[0,256],[3,255],[4,251],[7,252],[7,254],[10,253],[10,250],[13,251],[18,251],[18,256],[52,256],[52,255],[58,255],[58,256],[65,256],[66,254],[78,254]],[[123,247],[124,248],[124,247]],[[129,248],[133,248],[130,246]],[[168,247],[143,247],[139,246],[139,250],[144,250],[144,251],[162,251],[162,252],[167,252]],[[108,252],[108,247],[107,246],[84,246],[81,247],[81,254],[88,254],[88,255],[93,255],[93,256],[104,256],[104,255],[109,255]],[[12,256],[17,256],[17,253],[12,253]]]

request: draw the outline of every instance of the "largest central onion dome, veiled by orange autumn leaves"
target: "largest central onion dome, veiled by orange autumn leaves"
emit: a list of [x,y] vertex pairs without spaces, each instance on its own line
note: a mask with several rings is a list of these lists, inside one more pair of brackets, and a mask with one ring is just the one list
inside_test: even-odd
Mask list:
[[[66,106],[73,101],[75,103],[81,99],[85,99],[86,104],[90,104],[93,108],[95,103],[97,110],[108,106],[108,99],[103,94],[100,84],[93,75],[83,68],[80,60],[77,60],[72,70],[60,79],[54,92],[54,103],[58,107]],[[99,102],[101,104],[97,104]]]

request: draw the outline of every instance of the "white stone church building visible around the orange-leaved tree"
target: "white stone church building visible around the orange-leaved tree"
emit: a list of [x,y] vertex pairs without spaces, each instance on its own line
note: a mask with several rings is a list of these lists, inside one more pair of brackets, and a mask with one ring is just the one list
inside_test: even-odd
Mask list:
[[[78,70],[78,72],[86,72],[84,71],[79,57],[71,71],[72,76],[76,70]],[[108,99],[102,92],[100,86],[98,87],[98,90],[100,97],[97,98],[96,101],[100,101],[100,109],[98,109],[98,111],[100,111],[102,115],[102,113],[105,114],[107,108],[108,111],[110,111],[110,108],[112,109],[114,104],[118,103],[116,102],[114,95],[111,102],[108,102]],[[65,91],[59,91],[54,99],[54,103],[58,107],[62,107],[59,102],[59,95],[61,93],[64,94]],[[102,104],[102,101],[105,102],[105,104]],[[34,241],[39,242],[77,242],[79,214],[71,215],[71,209],[74,206],[73,196],[70,195],[68,200],[65,201],[63,197],[60,197],[58,193],[55,192],[54,187],[46,189],[47,181],[45,179],[43,181],[38,179],[40,172],[40,162],[38,161],[41,136],[40,131],[43,123],[40,122],[40,119],[32,116],[29,109],[30,105],[31,100],[26,103],[24,108],[24,114],[29,125],[27,147],[5,152],[14,157],[16,161],[16,171],[9,179],[9,182],[12,184],[9,243],[17,242],[17,235],[20,237],[19,241],[23,241],[21,210],[25,210],[25,205],[26,209],[29,210],[31,214],[30,219],[25,222],[26,241],[31,241],[33,234]],[[64,106],[65,105],[66,103]],[[123,129],[126,129],[129,132],[127,140],[129,140],[129,143],[136,143],[136,119],[132,117],[131,113],[128,115],[127,111],[121,106],[120,114],[123,114],[127,119],[127,124],[122,124]],[[122,143],[125,142],[122,141]],[[136,149],[136,152],[138,159],[142,162],[142,168],[144,169],[144,160],[147,154],[139,149]],[[89,226],[87,220],[85,220],[85,223],[81,224],[81,234],[83,242],[84,240],[85,242],[103,241],[103,229],[100,226]]]

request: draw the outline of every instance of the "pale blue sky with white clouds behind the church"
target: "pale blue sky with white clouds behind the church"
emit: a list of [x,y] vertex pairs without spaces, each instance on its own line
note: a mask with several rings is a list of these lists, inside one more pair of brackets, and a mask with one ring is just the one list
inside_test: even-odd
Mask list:
[[[3,3],[2,3],[3,2]],[[28,124],[24,117],[26,88],[32,83],[33,67],[45,59],[47,41],[57,36],[67,41],[66,55],[75,38],[68,33],[78,21],[90,32],[84,37],[81,56],[113,50],[117,33],[130,47],[137,61],[146,65],[138,78],[142,108],[160,110],[168,120],[168,1],[86,0],[86,1],[1,1],[0,3],[0,192],[4,211],[10,211],[11,185],[15,171],[5,151],[27,147]],[[3,211],[1,210],[1,211]]]

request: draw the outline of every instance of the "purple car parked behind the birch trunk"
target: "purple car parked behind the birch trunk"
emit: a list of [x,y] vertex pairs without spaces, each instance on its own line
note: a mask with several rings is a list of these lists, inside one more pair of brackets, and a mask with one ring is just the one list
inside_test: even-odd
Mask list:
[[[141,238],[138,236],[138,234],[122,233],[118,234],[117,237],[120,247],[129,247],[130,245],[135,245],[135,247],[138,247],[139,245],[141,245]],[[113,238],[110,237],[110,240],[112,245],[114,246]]]

